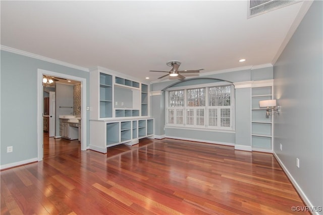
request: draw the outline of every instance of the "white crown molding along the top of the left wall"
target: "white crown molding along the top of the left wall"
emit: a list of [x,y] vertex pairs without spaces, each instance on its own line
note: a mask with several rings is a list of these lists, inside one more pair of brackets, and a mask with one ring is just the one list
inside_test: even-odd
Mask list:
[[55,63],[55,64],[67,66],[67,67],[70,67],[70,68],[79,69],[79,70],[82,70],[82,71],[89,71],[88,68],[85,68],[85,67],[82,67],[82,66],[74,65],[74,64],[71,64],[71,63],[63,62],[63,61],[52,59],[52,58],[49,58],[49,57],[44,57],[44,56],[34,54],[34,53],[30,53],[30,52],[27,52],[27,51],[22,51],[22,50],[19,50],[19,49],[16,49],[16,48],[11,48],[11,47],[5,46],[5,45],[1,45],[0,49],[4,50],[4,51],[9,51],[9,52],[12,52],[12,53],[15,53],[15,54],[20,54],[20,55],[24,55],[24,56],[27,56],[27,57],[32,57],[32,58],[35,58],[35,59],[38,59],[38,60],[43,60],[43,61],[47,61],[47,62],[50,62],[50,63]]

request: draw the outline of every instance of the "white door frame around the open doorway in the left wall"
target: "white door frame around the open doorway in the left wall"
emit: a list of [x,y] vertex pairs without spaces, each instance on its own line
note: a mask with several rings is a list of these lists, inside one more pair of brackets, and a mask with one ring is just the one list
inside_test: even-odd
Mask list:
[[70,76],[62,73],[56,73],[54,71],[48,71],[44,69],[37,69],[37,149],[38,149],[38,161],[42,161],[43,159],[43,85],[42,79],[43,75],[54,76],[58,78],[71,79],[75,81],[81,82],[81,128],[82,128],[82,141],[81,141],[81,150],[87,150],[87,107],[86,107],[86,79]]

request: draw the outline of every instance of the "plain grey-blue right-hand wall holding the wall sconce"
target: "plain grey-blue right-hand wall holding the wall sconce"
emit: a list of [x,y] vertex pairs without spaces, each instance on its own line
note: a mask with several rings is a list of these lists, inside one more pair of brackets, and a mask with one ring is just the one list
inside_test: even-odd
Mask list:
[[313,2],[274,65],[274,95],[281,105],[274,151],[316,207],[323,206],[322,3]]

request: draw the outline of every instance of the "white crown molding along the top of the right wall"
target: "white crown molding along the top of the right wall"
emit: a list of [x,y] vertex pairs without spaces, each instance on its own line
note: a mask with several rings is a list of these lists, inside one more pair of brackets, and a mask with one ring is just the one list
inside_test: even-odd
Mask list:
[[[285,39],[283,40],[281,46],[279,47],[274,59],[272,60],[272,64],[275,65],[276,61],[278,60],[278,58],[281,56],[282,52],[284,51],[287,43],[289,42],[289,40],[292,38],[292,36],[294,35],[296,29],[298,28],[299,24],[301,23],[301,21],[303,20],[305,14],[307,13],[308,9],[310,8],[310,6],[312,5],[313,1],[312,0],[307,0],[307,1],[302,1],[302,6],[298,12],[298,14],[296,15],[294,22],[292,23],[291,27],[289,28]],[[298,3],[300,4],[300,3]]]

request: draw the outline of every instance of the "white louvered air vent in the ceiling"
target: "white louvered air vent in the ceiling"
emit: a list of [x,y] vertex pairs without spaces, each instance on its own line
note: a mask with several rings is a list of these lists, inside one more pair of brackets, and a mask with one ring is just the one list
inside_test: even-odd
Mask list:
[[298,3],[300,1],[294,0],[250,0],[248,1],[248,17],[255,17],[269,11],[274,11],[288,5]]

